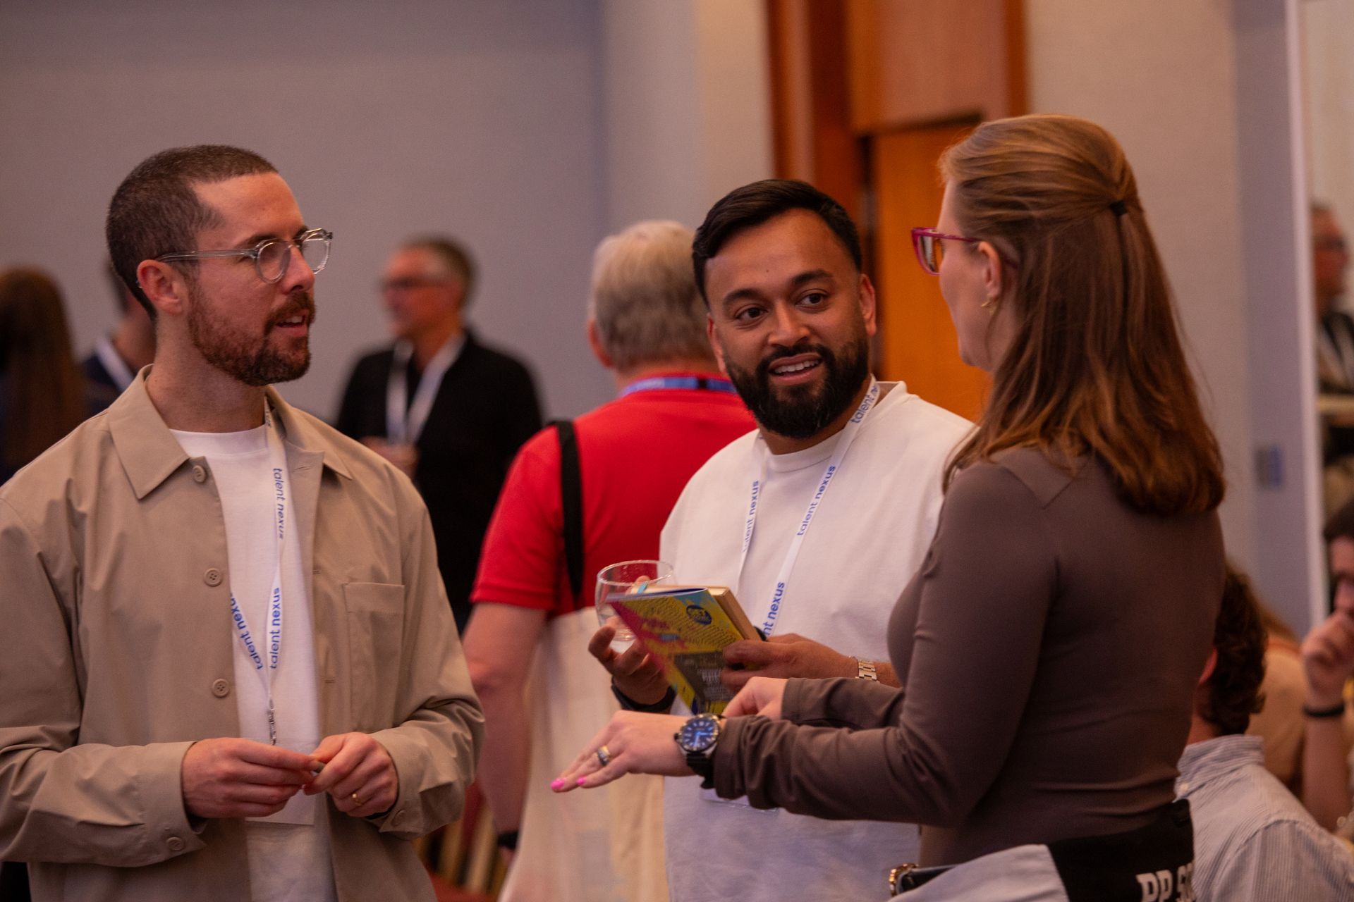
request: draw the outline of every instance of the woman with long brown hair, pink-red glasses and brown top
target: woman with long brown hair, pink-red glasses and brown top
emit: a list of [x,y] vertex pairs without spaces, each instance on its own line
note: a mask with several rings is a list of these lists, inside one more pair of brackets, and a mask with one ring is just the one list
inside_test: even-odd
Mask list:
[[722,722],[623,711],[555,787],[700,772],[757,807],[919,822],[918,898],[1175,898],[1224,481],[1133,173],[1071,116],[986,123],[940,166],[918,261],[992,389],[888,623],[903,688],[754,678]]

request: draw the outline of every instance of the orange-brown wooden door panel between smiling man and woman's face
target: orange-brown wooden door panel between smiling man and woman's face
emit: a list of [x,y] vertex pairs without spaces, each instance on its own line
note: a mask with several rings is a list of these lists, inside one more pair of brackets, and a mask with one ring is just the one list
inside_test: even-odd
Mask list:
[[974,419],[988,377],[959,358],[940,281],[917,265],[913,226],[934,226],[942,185],[936,161],[972,124],[909,128],[871,139],[875,187],[875,273],[879,289],[879,373],[926,400]]

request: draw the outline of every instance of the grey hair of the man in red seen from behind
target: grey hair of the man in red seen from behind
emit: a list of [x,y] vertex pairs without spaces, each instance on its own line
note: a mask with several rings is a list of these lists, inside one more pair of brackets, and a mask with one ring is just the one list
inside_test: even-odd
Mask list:
[[714,360],[691,272],[691,238],[678,222],[647,220],[597,245],[588,315],[616,369]]

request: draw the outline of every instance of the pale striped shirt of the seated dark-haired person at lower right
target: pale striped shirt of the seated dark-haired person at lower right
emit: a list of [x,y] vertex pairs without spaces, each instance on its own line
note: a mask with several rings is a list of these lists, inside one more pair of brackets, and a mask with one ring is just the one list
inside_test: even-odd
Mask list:
[[1265,769],[1258,736],[1185,748],[1175,792],[1194,818],[1194,893],[1227,899],[1354,901],[1354,855]]

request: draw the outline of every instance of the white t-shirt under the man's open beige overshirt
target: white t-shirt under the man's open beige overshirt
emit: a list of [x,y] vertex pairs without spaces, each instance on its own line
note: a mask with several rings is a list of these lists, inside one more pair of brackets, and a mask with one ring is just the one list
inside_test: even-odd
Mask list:
[[[276,508],[264,427],[242,433],[172,430],[190,457],[206,457],[226,522],[229,586],[265,655],[268,599],[278,567]],[[290,517],[295,523],[295,514]],[[301,537],[286,530],[282,561],[282,653],[272,678],[278,745],[311,752],[320,744],[315,650],[309,580],[302,572]],[[234,695],[240,736],[268,742],[268,694],[232,632]],[[267,656],[264,657],[267,660]],[[255,902],[333,902],[329,824],[322,795],[297,792],[268,818],[245,821],[250,898]]]

